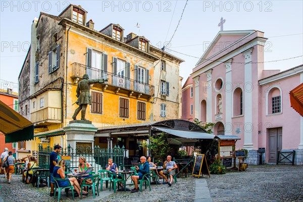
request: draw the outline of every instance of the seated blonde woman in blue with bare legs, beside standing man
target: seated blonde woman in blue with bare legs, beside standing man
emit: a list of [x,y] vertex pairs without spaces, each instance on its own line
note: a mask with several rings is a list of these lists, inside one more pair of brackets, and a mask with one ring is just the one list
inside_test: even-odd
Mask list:
[[[53,175],[56,178],[65,179],[65,173],[64,173],[64,171],[65,171],[65,160],[61,159],[58,162],[58,164],[55,166]],[[78,194],[78,195],[75,194],[74,196],[75,197],[79,196],[79,198],[80,198],[81,187],[80,187],[79,182],[77,181],[77,179],[75,177],[71,177],[71,178],[67,178],[67,179],[71,182],[71,185],[74,185],[74,188],[75,188],[75,190],[76,190],[76,192]],[[59,181],[58,180],[57,182],[58,182],[58,185],[60,187],[64,187],[64,186],[68,186],[69,185],[68,182],[66,182],[66,181],[61,181],[61,180]],[[87,192],[86,191],[82,192],[82,195],[86,196]]]

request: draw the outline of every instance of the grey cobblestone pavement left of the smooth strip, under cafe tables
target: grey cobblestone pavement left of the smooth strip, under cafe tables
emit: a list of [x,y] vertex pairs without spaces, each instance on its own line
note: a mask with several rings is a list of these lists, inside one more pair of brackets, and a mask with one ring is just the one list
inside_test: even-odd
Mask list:
[[[7,179],[0,176],[0,202],[4,201],[58,201],[58,198],[49,196],[50,188],[44,187],[33,187],[31,184],[25,184],[21,182],[21,175],[13,175],[11,184],[7,183]],[[128,188],[133,188],[134,185],[128,185]],[[96,196],[94,199],[91,190],[87,198],[83,198],[81,201],[194,201],[194,178],[178,178],[177,184],[173,183],[172,186],[168,184],[151,185],[151,191],[148,187],[142,192],[131,193],[130,191],[117,191],[110,192],[109,188],[103,186],[103,191],[99,191],[100,196]],[[148,195],[146,195],[148,194]],[[109,195],[109,196],[108,196]],[[69,197],[66,196],[65,192],[61,192],[60,201],[80,201],[79,198],[73,200],[71,191],[69,191]]]

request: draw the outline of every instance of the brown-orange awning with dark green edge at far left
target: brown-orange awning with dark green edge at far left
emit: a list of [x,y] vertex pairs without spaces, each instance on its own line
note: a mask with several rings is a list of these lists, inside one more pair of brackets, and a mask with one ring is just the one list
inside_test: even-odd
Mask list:
[[0,100],[0,131],[5,142],[26,141],[34,138],[33,123]]

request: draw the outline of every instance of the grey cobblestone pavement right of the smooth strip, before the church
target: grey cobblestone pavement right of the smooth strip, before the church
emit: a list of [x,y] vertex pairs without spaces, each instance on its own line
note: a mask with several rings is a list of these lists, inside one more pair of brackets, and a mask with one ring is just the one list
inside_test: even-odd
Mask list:
[[207,178],[216,201],[303,201],[303,166],[249,165]]

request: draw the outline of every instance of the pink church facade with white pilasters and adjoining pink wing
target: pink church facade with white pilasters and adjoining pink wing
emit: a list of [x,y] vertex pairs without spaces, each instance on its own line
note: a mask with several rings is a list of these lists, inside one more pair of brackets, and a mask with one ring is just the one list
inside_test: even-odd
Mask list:
[[249,164],[259,164],[262,147],[262,163],[295,150],[295,164],[302,164],[303,119],[290,107],[289,91],[303,82],[303,65],[265,70],[266,40],[256,30],[220,31],[183,86],[182,119],[212,122],[214,134],[240,137],[236,149],[248,150]]

